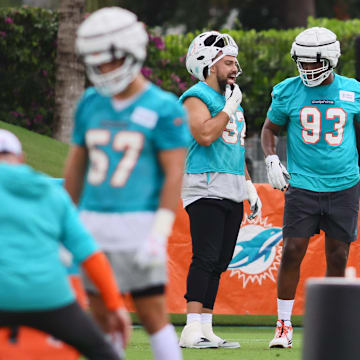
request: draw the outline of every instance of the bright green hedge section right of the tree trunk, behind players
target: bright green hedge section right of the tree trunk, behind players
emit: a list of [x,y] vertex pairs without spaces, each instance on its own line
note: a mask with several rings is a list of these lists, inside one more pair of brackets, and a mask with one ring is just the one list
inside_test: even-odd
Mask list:
[[[336,71],[355,77],[355,39],[360,35],[360,20],[309,18],[308,26],[327,27],[337,34],[342,56]],[[243,91],[242,105],[250,132],[261,129],[271,102],[272,87],[289,76],[298,75],[296,65],[290,57],[290,48],[296,35],[302,30],[304,29],[229,31],[239,46],[238,60],[243,74],[238,83]],[[187,73],[183,59],[191,40],[197,34],[167,36],[165,49],[148,59],[148,65],[153,69],[151,79],[160,79],[165,88],[177,94],[190,86],[194,81]]]

